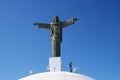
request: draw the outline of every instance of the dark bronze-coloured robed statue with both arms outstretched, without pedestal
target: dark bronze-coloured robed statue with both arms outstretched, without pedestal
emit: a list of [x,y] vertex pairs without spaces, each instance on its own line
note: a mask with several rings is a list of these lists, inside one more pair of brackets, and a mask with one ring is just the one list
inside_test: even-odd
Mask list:
[[60,57],[60,44],[62,42],[62,28],[67,27],[77,21],[78,18],[72,18],[67,21],[59,21],[58,16],[54,16],[52,23],[39,23],[36,22],[34,25],[39,28],[50,29],[50,36],[52,39],[52,57]]

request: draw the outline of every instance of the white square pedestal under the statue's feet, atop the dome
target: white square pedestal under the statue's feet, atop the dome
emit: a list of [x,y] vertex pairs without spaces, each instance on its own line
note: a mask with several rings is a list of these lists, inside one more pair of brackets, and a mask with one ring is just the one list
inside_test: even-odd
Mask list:
[[50,72],[61,71],[61,57],[50,57],[49,58],[49,71]]

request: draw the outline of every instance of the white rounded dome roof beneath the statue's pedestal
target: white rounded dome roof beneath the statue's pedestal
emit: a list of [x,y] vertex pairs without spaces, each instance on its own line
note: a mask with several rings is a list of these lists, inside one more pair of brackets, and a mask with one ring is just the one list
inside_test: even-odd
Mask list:
[[82,74],[71,72],[43,72],[21,78],[19,80],[94,80]]

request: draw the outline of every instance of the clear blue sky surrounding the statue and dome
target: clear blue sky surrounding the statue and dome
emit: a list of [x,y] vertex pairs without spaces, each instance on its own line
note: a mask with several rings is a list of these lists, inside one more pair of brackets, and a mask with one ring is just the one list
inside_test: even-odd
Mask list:
[[34,26],[79,17],[63,30],[62,68],[69,59],[79,74],[120,80],[119,0],[0,0],[0,80],[18,80],[28,71],[45,72],[51,56],[49,30]]

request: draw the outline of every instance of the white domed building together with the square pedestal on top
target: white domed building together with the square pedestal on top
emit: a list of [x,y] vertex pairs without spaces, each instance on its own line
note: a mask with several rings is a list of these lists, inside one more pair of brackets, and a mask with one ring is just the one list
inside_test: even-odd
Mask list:
[[88,76],[61,71],[61,58],[49,59],[49,72],[32,74],[19,80],[94,80]]

